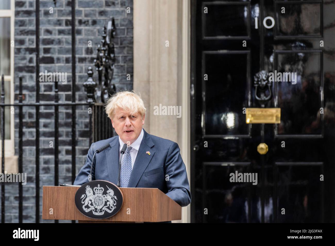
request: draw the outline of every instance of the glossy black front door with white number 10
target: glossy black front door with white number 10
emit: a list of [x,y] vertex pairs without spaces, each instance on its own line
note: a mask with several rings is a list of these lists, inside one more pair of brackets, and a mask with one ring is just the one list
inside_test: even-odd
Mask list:
[[[334,223],[335,2],[191,9],[191,222]],[[273,81],[262,101],[257,78],[271,72],[295,81]],[[262,107],[280,108],[280,123],[247,124],[244,109]],[[257,185],[230,182],[236,171]]]

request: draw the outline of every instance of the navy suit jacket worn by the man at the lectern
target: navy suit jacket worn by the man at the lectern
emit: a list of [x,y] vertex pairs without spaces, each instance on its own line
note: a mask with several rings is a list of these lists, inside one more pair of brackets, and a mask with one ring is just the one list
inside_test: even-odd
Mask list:
[[[128,187],[158,188],[181,206],[191,203],[190,185],[186,167],[176,142],[148,134],[144,135],[138,149]],[[74,185],[88,182],[93,153],[109,143],[110,147],[95,155],[92,180],[107,180],[114,184],[119,178],[119,136],[91,144],[85,165],[80,169]],[[150,155],[146,152],[150,151]],[[168,176],[168,180],[165,175]]]

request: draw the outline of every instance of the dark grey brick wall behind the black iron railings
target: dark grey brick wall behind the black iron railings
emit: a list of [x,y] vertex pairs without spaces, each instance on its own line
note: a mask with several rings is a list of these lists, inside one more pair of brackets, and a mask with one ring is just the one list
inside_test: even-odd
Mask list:
[[[53,7],[53,13],[50,13]],[[131,13],[126,13],[126,8]],[[77,0],[76,1],[76,101],[85,102],[83,83],[87,79],[87,67],[93,67],[102,28],[110,17],[115,18],[114,40],[116,66],[113,83],[118,90],[132,89],[133,75],[133,16],[132,0]],[[23,76],[24,102],[35,102],[36,95],[36,29],[35,1],[15,0],[15,56],[14,92],[18,94],[18,77]],[[92,41],[92,47],[88,47]],[[59,82],[59,101],[71,102],[71,1],[40,0],[40,72],[67,72],[67,84]],[[131,74],[131,80],[127,80]],[[97,74],[94,70],[94,81]],[[40,82],[40,101],[53,102],[54,82]],[[15,100],[15,102],[18,102]],[[89,148],[89,124],[87,106],[76,108],[76,166],[85,163]],[[27,184],[23,186],[23,222],[35,222],[35,107],[23,107],[23,172]],[[16,109],[16,112],[17,109]],[[18,153],[18,114],[15,114],[15,153]],[[59,182],[71,184],[71,107],[59,107]],[[54,108],[40,108],[40,222],[42,220],[42,186],[54,185]],[[18,222],[18,185],[6,183],[6,222]],[[1,217],[1,214],[0,214]],[[61,221],[60,221],[61,222]],[[68,221],[65,221],[68,222]]]

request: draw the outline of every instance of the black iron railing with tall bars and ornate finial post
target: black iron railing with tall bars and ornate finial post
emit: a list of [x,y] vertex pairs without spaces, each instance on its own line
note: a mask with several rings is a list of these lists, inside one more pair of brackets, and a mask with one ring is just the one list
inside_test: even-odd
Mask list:
[[[87,90],[87,102],[76,102],[76,71],[75,71],[75,1],[71,3],[72,10],[72,21],[71,21],[71,38],[72,38],[72,100],[71,103],[59,102],[59,92],[58,92],[58,81],[55,82],[55,98],[54,102],[40,102],[40,1],[36,0],[36,100],[35,103],[23,103],[22,94],[22,77],[19,77],[19,94],[18,103],[5,104],[5,93],[4,93],[4,76],[1,78],[1,98],[0,98],[0,117],[1,117],[1,141],[2,141],[2,158],[1,158],[1,170],[5,170],[5,107],[15,107],[18,108],[18,171],[23,173],[23,107],[35,107],[36,111],[36,174],[35,174],[35,184],[36,184],[36,223],[40,221],[40,108],[42,106],[53,106],[55,109],[54,122],[55,122],[55,144],[54,144],[54,160],[55,160],[55,173],[54,173],[54,185],[59,185],[59,106],[71,106],[72,118],[71,118],[71,146],[72,146],[72,165],[71,165],[71,179],[72,183],[75,180],[76,175],[76,106],[86,105],[91,108],[91,114],[89,114],[89,145],[92,142],[106,139],[112,137],[114,134],[112,124],[107,117],[104,109],[104,103],[106,99],[116,92],[115,85],[111,83],[114,71],[115,63],[115,53],[114,53],[114,43],[112,39],[115,35],[115,24],[112,18],[108,23],[108,27],[104,27],[102,44],[98,46],[97,58],[94,60],[95,67],[98,72],[98,83],[93,81],[93,71],[89,67],[87,74],[88,79],[84,82],[84,86]],[[8,130],[8,129],[7,129]],[[89,146],[87,146],[89,147]],[[1,183],[1,223],[5,223],[5,182]],[[22,204],[23,204],[23,190],[21,183],[18,184],[18,222],[22,223]],[[75,221],[72,221],[73,223]],[[55,223],[58,223],[55,220]]]

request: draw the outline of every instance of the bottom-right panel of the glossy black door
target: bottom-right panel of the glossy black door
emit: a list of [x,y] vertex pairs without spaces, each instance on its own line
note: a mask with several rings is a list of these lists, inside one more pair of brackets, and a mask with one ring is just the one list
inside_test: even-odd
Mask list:
[[276,162],[279,223],[315,223],[322,221],[323,188],[317,175],[323,163]]

